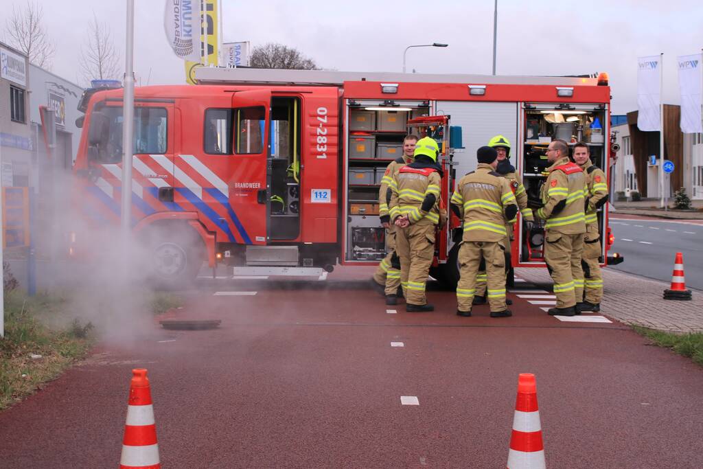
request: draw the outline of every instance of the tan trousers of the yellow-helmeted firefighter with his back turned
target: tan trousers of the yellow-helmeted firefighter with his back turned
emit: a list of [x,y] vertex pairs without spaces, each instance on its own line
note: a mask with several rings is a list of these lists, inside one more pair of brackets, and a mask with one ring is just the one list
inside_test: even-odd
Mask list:
[[434,257],[434,230],[434,224],[413,224],[396,229],[400,281],[407,304],[427,304],[425,283]]

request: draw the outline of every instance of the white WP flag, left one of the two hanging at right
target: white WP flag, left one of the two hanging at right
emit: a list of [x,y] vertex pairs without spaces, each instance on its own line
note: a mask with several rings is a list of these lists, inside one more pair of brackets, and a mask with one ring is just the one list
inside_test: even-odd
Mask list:
[[637,58],[637,127],[641,131],[659,130],[659,105],[662,103],[662,56]]

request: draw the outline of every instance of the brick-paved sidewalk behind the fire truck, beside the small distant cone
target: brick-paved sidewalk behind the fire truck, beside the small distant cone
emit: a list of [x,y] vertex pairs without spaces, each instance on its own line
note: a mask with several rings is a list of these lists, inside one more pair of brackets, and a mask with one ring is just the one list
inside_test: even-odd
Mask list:
[[[601,313],[626,324],[674,333],[703,332],[703,292],[693,291],[692,301],[664,300],[669,283],[602,269]],[[551,290],[547,269],[515,269],[515,276]]]

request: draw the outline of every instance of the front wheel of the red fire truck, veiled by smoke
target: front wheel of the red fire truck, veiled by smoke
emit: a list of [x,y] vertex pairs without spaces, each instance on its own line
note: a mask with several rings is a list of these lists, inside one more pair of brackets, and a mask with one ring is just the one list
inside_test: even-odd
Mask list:
[[202,266],[205,246],[187,224],[163,224],[146,239],[146,271],[155,288],[175,290],[191,285]]

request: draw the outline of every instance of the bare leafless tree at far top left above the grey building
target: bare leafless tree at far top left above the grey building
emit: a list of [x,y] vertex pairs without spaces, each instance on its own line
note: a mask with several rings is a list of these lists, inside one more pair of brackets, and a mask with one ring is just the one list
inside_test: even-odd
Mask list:
[[23,10],[13,6],[12,15],[5,20],[5,31],[11,46],[28,56],[31,63],[48,69],[55,50],[42,24],[43,17],[44,11],[37,3],[27,2]]

